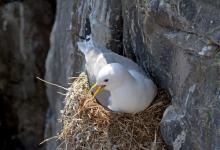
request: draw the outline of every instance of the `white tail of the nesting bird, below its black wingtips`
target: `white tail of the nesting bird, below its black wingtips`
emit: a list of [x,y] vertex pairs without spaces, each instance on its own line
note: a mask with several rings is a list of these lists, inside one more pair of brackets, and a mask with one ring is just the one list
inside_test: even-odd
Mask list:
[[92,43],[92,39],[90,38],[89,40],[85,40],[83,42],[77,42],[79,50],[86,55],[89,50],[94,48],[94,45]]

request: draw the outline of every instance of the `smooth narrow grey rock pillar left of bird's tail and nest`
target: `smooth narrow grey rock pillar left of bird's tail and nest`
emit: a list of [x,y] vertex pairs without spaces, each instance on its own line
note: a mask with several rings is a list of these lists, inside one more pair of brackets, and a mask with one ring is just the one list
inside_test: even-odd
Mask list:
[[[78,31],[77,23],[72,24],[72,18],[77,20],[74,13],[80,1],[72,0],[57,0],[56,20],[53,25],[53,30],[50,36],[50,50],[46,59],[46,75],[47,81],[67,87],[69,77],[77,76],[82,70],[82,54],[80,54],[76,46],[77,36],[73,38],[75,30]],[[83,7],[83,6],[82,6]],[[74,8],[74,11],[73,11]],[[78,20],[77,20],[78,21]],[[76,33],[76,32],[75,32]],[[45,139],[51,138],[60,131],[58,122],[60,110],[63,109],[64,96],[57,92],[65,93],[62,89],[47,85],[47,97],[49,100],[49,110],[47,113]],[[59,145],[59,142],[50,140],[47,142],[47,149],[54,150]]]

